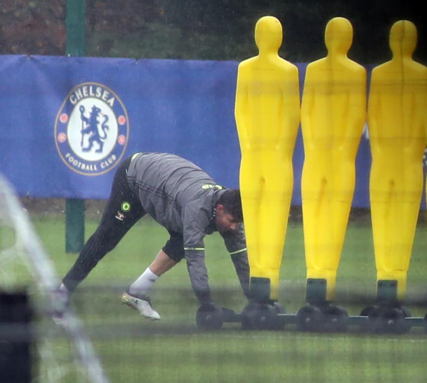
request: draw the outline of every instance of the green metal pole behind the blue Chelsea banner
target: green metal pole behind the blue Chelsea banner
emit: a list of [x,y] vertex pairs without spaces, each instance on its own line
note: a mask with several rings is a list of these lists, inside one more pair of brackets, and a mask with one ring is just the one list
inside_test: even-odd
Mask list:
[[[67,0],[65,16],[67,56],[86,54],[86,0]],[[79,252],[84,245],[84,200],[65,201],[65,251]]]

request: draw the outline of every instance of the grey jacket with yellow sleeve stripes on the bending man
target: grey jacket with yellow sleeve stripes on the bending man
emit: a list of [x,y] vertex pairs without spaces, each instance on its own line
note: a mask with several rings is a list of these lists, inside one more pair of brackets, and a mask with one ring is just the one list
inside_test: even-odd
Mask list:
[[[210,302],[203,238],[217,231],[215,209],[226,189],[192,162],[168,153],[135,154],[128,168],[128,182],[151,217],[167,230],[182,233],[192,288],[201,304]],[[220,234],[248,296],[249,263],[243,225]]]

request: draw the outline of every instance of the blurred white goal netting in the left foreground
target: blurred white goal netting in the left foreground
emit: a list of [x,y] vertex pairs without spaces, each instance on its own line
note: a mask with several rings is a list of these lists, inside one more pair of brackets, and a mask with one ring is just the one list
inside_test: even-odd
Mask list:
[[101,363],[79,319],[70,310],[62,326],[51,319],[52,291],[59,285],[53,264],[13,187],[0,174],[0,290],[25,288],[36,311],[32,326],[38,365],[34,383],[106,383]]

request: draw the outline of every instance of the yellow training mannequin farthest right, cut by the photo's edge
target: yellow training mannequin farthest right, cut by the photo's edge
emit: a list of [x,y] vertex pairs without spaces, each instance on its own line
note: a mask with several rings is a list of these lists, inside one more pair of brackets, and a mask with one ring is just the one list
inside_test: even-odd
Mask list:
[[[412,60],[416,39],[411,22],[392,26],[393,58],[374,68],[369,94],[372,226],[378,296],[385,299],[404,298],[422,195],[427,67]],[[389,294],[380,291],[384,282]]]

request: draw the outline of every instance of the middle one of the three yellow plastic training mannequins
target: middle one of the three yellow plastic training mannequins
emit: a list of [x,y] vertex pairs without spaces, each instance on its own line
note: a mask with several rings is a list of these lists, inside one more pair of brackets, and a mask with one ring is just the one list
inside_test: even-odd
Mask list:
[[308,302],[334,298],[354,194],[355,159],[366,119],[366,70],[347,57],[352,41],[347,19],[330,20],[328,55],[308,64],[305,74],[301,192]]

